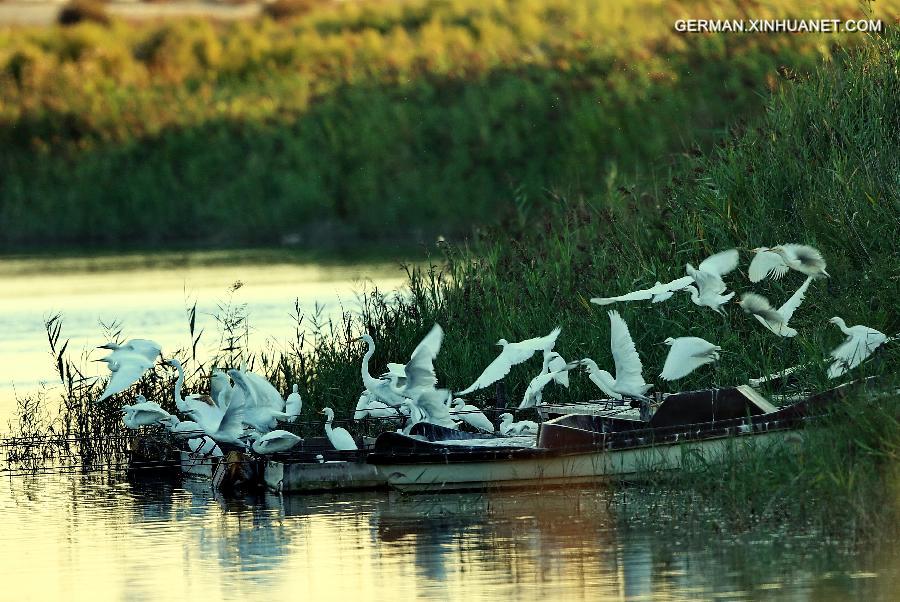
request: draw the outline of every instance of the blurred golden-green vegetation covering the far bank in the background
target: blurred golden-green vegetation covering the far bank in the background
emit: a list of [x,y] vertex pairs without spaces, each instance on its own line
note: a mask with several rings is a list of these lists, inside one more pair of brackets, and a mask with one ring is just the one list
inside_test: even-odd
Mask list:
[[0,30],[0,247],[415,240],[548,190],[600,203],[666,180],[674,153],[758,110],[779,68],[795,77],[864,38],[673,28],[863,15],[856,0],[748,14],[738,1],[410,0]]

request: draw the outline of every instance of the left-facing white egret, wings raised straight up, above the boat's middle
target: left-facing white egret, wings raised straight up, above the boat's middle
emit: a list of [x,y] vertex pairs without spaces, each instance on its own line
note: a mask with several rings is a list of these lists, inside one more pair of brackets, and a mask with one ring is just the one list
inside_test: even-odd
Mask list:
[[615,378],[606,370],[601,370],[590,358],[585,358],[580,363],[586,367],[591,381],[613,399],[622,399],[623,396],[647,399],[644,394],[653,385],[648,385],[641,374],[643,371],[641,358],[634,347],[631,333],[628,332],[628,324],[619,312],[610,311],[608,314],[609,346],[616,366]]

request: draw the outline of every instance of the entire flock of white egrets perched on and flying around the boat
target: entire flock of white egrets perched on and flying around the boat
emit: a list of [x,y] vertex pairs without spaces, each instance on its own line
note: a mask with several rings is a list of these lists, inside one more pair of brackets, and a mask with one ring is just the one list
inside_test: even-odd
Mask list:
[[[797,291],[779,308],[756,293],[746,293],[737,303],[745,312],[753,315],[766,329],[779,337],[793,337],[797,331],[788,325],[794,312],[803,302],[804,295],[813,280],[828,277],[822,254],[807,245],[784,244],[753,250],[755,256],[749,266],[751,282],[765,278],[780,279],[790,271],[806,276]],[[722,306],[730,301],[734,292],[727,292],[723,278],[738,265],[738,251],[730,249],[716,253],[696,268],[687,264],[686,276],[668,283],[619,295],[591,299],[597,305],[609,305],[624,301],[660,303],[676,292],[690,294],[698,306],[724,313]],[[405,423],[399,432],[409,434],[413,426],[428,422],[446,428],[459,428],[466,423],[485,433],[503,436],[534,435],[538,425],[529,420],[514,422],[511,413],[500,416],[498,427],[477,407],[469,404],[462,395],[488,387],[509,374],[511,368],[530,360],[535,354],[543,355],[541,371],[525,390],[519,409],[535,407],[542,403],[542,392],[551,382],[569,386],[569,372],[583,367],[589,379],[607,396],[613,399],[633,398],[647,400],[647,392],[653,387],[644,380],[643,365],[625,320],[616,311],[609,311],[610,348],[615,375],[601,369],[590,359],[567,362],[553,350],[560,329],[555,328],[547,336],[510,343],[506,339],[497,342],[502,349],[481,375],[458,396],[448,389],[438,388],[434,370],[434,358],[441,348],[444,331],[435,324],[431,331],[413,350],[406,364],[389,363],[388,371],[373,376],[369,364],[375,354],[375,341],[369,335],[360,337],[366,346],[361,366],[365,390],[353,414],[355,420],[366,417],[394,419]],[[846,340],[831,351],[828,376],[836,378],[853,369],[868,358],[879,346],[890,340],[884,333],[867,326],[848,327],[839,317],[831,318],[846,335]],[[668,338],[668,355],[659,377],[672,381],[684,378],[694,370],[716,362],[722,348],[699,337]],[[134,339],[124,345],[109,343],[101,348],[110,354],[99,360],[105,362],[112,375],[103,396],[120,393],[134,384],[161,355],[161,348],[153,341]],[[128,428],[162,425],[175,438],[187,440],[189,448],[204,455],[221,455],[218,444],[250,448],[258,454],[287,451],[302,441],[297,435],[277,429],[281,422],[294,422],[300,416],[303,401],[298,386],[286,399],[264,377],[250,372],[246,366],[227,372],[214,371],[210,377],[208,395],[182,395],[184,370],[180,362],[171,359],[166,365],[178,371],[175,381],[174,401],[178,412],[186,420],[163,410],[158,403],[147,401],[138,395],[136,402],[122,408]],[[792,371],[787,369],[784,373]],[[346,429],[333,427],[334,410],[325,408],[325,434],[337,450],[355,450],[357,443]]]

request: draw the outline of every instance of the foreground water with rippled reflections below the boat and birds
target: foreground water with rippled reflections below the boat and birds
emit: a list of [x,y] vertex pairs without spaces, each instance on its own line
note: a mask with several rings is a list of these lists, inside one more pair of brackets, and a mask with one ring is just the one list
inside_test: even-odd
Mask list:
[[224,498],[199,480],[14,478],[0,567],[11,598],[821,600],[897,585],[893,539],[714,537],[623,508],[597,489]]

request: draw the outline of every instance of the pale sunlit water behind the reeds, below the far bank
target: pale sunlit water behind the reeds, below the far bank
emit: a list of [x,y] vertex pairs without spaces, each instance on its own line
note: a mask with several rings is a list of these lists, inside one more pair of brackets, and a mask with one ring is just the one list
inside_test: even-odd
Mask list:
[[[205,330],[200,352],[212,352],[219,337],[212,314],[229,298],[246,303],[250,347],[283,343],[294,332],[294,299],[324,316],[356,310],[356,294],[378,286],[392,290],[404,282],[396,261],[311,263],[287,253],[228,251],[127,254],[88,258],[0,259],[0,430],[15,393],[54,384],[54,368],[44,332],[46,318],[63,316],[63,338],[78,357],[105,342],[100,322],[118,321],[126,338],[151,338],[163,353],[191,345],[186,308],[197,302],[197,331]],[[89,375],[103,364],[86,364]]]

